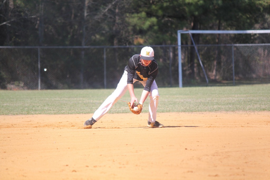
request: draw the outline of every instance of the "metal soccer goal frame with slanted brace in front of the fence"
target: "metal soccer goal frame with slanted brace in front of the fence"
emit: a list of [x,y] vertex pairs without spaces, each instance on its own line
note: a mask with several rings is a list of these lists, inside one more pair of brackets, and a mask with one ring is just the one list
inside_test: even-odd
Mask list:
[[[192,38],[192,34],[262,34],[262,33],[270,33],[270,30],[178,30],[177,37],[178,37],[178,75],[179,75],[179,87],[183,87],[183,80],[182,80],[182,52],[181,52],[181,34],[189,34],[192,40],[193,46],[198,56],[198,60],[201,64],[203,69],[203,73],[208,85],[208,78],[206,72],[204,70],[203,63],[201,62],[200,55],[198,53],[197,46]],[[233,53],[233,51],[232,51]],[[233,66],[233,73],[234,73],[234,56],[232,55],[232,66]]]

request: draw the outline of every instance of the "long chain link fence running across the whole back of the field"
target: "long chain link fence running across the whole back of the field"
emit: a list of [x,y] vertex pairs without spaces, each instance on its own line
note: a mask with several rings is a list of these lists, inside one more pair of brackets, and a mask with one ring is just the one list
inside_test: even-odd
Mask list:
[[[129,58],[140,53],[142,47],[2,46],[0,88],[115,88]],[[158,86],[178,87],[178,46],[151,47],[159,66]],[[197,48],[209,86],[270,83],[270,44],[198,45]],[[183,45],[181,49],[183,86],[207,85],[198,58],[193,54],[194,47]],[[193,55],[194,67],[190,62]]]

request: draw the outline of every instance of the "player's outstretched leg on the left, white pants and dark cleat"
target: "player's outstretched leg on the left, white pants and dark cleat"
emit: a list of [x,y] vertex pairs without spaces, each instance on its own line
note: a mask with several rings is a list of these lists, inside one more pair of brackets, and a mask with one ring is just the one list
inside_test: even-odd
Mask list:
[[116,89],[95,111],[92,118],[85,121],[84,125],[85,126],[93,125],[96,121],[102,118],[110,110],[110,108],[126,93],[126,91],[127,91],[127,72],[124,71],[124,74],[120,79]]

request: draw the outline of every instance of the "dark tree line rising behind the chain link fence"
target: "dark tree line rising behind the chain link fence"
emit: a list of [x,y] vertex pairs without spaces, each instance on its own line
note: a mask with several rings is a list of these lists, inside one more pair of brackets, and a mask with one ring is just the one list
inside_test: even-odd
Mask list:
[[[270,0],[1,0],[0,46],[177,45],[182,29],[269,29],[269,9]],[[269,35],[233,38],[269,43]],[[221,43],[219,35],[193,39]],[[185,36],[182,43],[191,44]],[[194,78],[194,49],[189,53]]]

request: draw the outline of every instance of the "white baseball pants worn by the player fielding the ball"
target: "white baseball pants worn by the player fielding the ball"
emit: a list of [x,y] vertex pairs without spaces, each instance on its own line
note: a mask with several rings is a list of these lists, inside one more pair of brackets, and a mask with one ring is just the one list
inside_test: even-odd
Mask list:
[[[138,80],[133,79],[133,83]],[[143,86],[146,85],[146,81],[139,81]],[[127,71],[124,71],[124,74],[122,78],[120,79],[116,89],[114,92],[107,97],[107,99],[100,105],[100,107],[95,111],[93,114],[93,118],[98,121],[100,118],[102,118],[109,110],[110,108],[126,93],[127,91]],[[157,105],[158,105],[158,90],[157,90],[157,84],[154,80],[150,92],[150,103],[149,103],[149,116],[148,120],[150,123],[154,123],[157,118]]]

